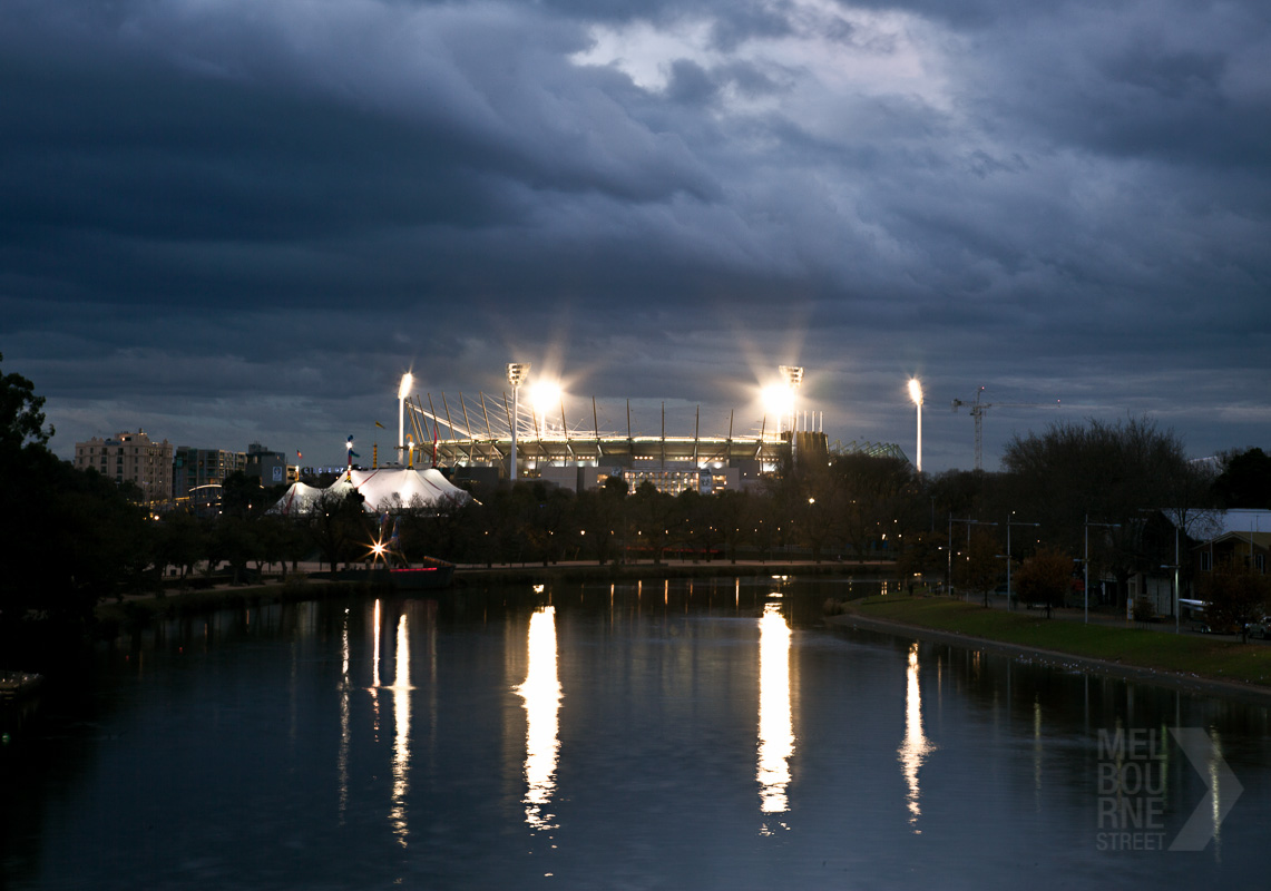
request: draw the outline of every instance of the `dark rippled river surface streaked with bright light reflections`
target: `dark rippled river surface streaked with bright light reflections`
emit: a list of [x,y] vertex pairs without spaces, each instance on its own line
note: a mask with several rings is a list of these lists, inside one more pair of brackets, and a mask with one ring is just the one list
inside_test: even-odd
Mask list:
[[5,881],[1262,885],[1267,709],[826,628],[845,591],[468,588],[155,625],[4,752]]

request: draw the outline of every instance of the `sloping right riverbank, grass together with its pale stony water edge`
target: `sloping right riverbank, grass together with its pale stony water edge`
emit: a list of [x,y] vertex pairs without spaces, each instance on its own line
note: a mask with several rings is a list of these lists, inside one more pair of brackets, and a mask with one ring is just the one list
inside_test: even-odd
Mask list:
[[1271,705],[1271,647],[1172,634],[1079,616],[984,609],[948,597],[867,597],[836,605],[831,625],[988,650],[1204,695]]

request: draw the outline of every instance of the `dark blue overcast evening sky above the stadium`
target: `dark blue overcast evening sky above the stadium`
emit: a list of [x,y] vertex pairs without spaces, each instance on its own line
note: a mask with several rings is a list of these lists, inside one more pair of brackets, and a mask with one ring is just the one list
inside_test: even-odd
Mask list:
[[929,470],[980,386],[989,469],[1092,417],[1271,447],[1266,0],[4,0],[0,158],[64,456],[369,460],[403,371],[513,360],[688,435],[802,365],[911,458],[918,375]]

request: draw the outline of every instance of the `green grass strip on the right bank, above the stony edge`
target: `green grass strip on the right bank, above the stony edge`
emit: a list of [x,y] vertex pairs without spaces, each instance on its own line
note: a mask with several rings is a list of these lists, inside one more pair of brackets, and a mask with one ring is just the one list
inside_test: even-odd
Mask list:
[[1238,638],[1046,619],[1041,613],[984,609],[947,597],[867,597],[853,601],[850,611],[1021,647],[1271,686],[1271,647]]

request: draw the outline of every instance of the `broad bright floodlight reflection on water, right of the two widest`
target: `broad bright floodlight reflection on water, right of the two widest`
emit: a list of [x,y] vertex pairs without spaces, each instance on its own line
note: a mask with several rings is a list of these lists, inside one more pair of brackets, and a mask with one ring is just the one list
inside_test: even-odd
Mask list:
[[[789,810],[785,789],[794,754],[791,718],[791,629],[779,604],[766,604],[759,620],[759,801],[764,813]],[[779,824],[783,827],[784,824]],[[771,833],[764,826],[764,834]]]

